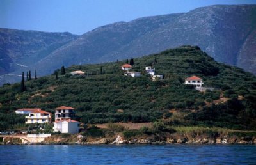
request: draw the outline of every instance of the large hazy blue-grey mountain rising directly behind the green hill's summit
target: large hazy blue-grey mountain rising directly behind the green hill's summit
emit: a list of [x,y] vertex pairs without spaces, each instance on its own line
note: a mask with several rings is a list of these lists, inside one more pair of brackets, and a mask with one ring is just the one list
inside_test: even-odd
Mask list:
[[[198,45],[216,61],[256,74],[255,15],[255,5],[217,5],[196,8],[188,13],[116,22],[73,38],[34,61],[26,70],[37,69],[40,75],[45,75],[61,65],[103,63],[180,45]],[[20,72],[17,70],[14,74]],[[10,79],[10,75],[2,79]]]

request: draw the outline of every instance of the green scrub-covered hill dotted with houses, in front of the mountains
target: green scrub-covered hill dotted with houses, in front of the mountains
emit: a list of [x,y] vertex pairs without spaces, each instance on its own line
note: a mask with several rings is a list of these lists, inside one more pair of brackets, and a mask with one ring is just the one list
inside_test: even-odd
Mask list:
[[[58,70],[57,80],[52,74],[26,81],[27,91],[22,93],[20,83],[5,84],[0,88],[0,130],[24,123],[16,109],[38,107],[54,113],[62,105],[76,108],[77,120],[83,123],[164,119],[172,125],[256,130],[256,77],[252,74],[217,63],[191,46],[135,58],[132,70],[142,77],[125,77],[120,69],[125,61],[72,66],[65,75]],[[152,63],[163,80],[152,81],[145,73]],[[74,70],[83,70],[86,76],[69,74]],[[191,75],[216,90],[200,92],[185,85],[184,79]]]

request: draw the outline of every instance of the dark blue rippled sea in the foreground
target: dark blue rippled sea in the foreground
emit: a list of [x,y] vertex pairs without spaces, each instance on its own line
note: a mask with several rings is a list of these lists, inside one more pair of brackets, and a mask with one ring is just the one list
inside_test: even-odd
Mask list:
[[0,145],[0,164],[256,164],[256,145]]

